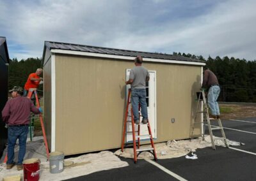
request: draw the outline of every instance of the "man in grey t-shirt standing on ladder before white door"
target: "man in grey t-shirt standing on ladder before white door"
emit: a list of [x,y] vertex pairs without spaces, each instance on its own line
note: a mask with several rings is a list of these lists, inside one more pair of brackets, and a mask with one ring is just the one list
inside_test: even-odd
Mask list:
[[135,67],[131,69],[129,80],[125,82],[126,84],[131,84],[132,95],[132,111],[134,115],[134,122],[136,124],[140,123],[139,117],[139,103],[141,106],[142,122],[147,124],[148,122],[148,110],[146,101],[146,82],[149,80],[149,72],[146,68],[141,66],[142,57],[137,56],[134,59]]

